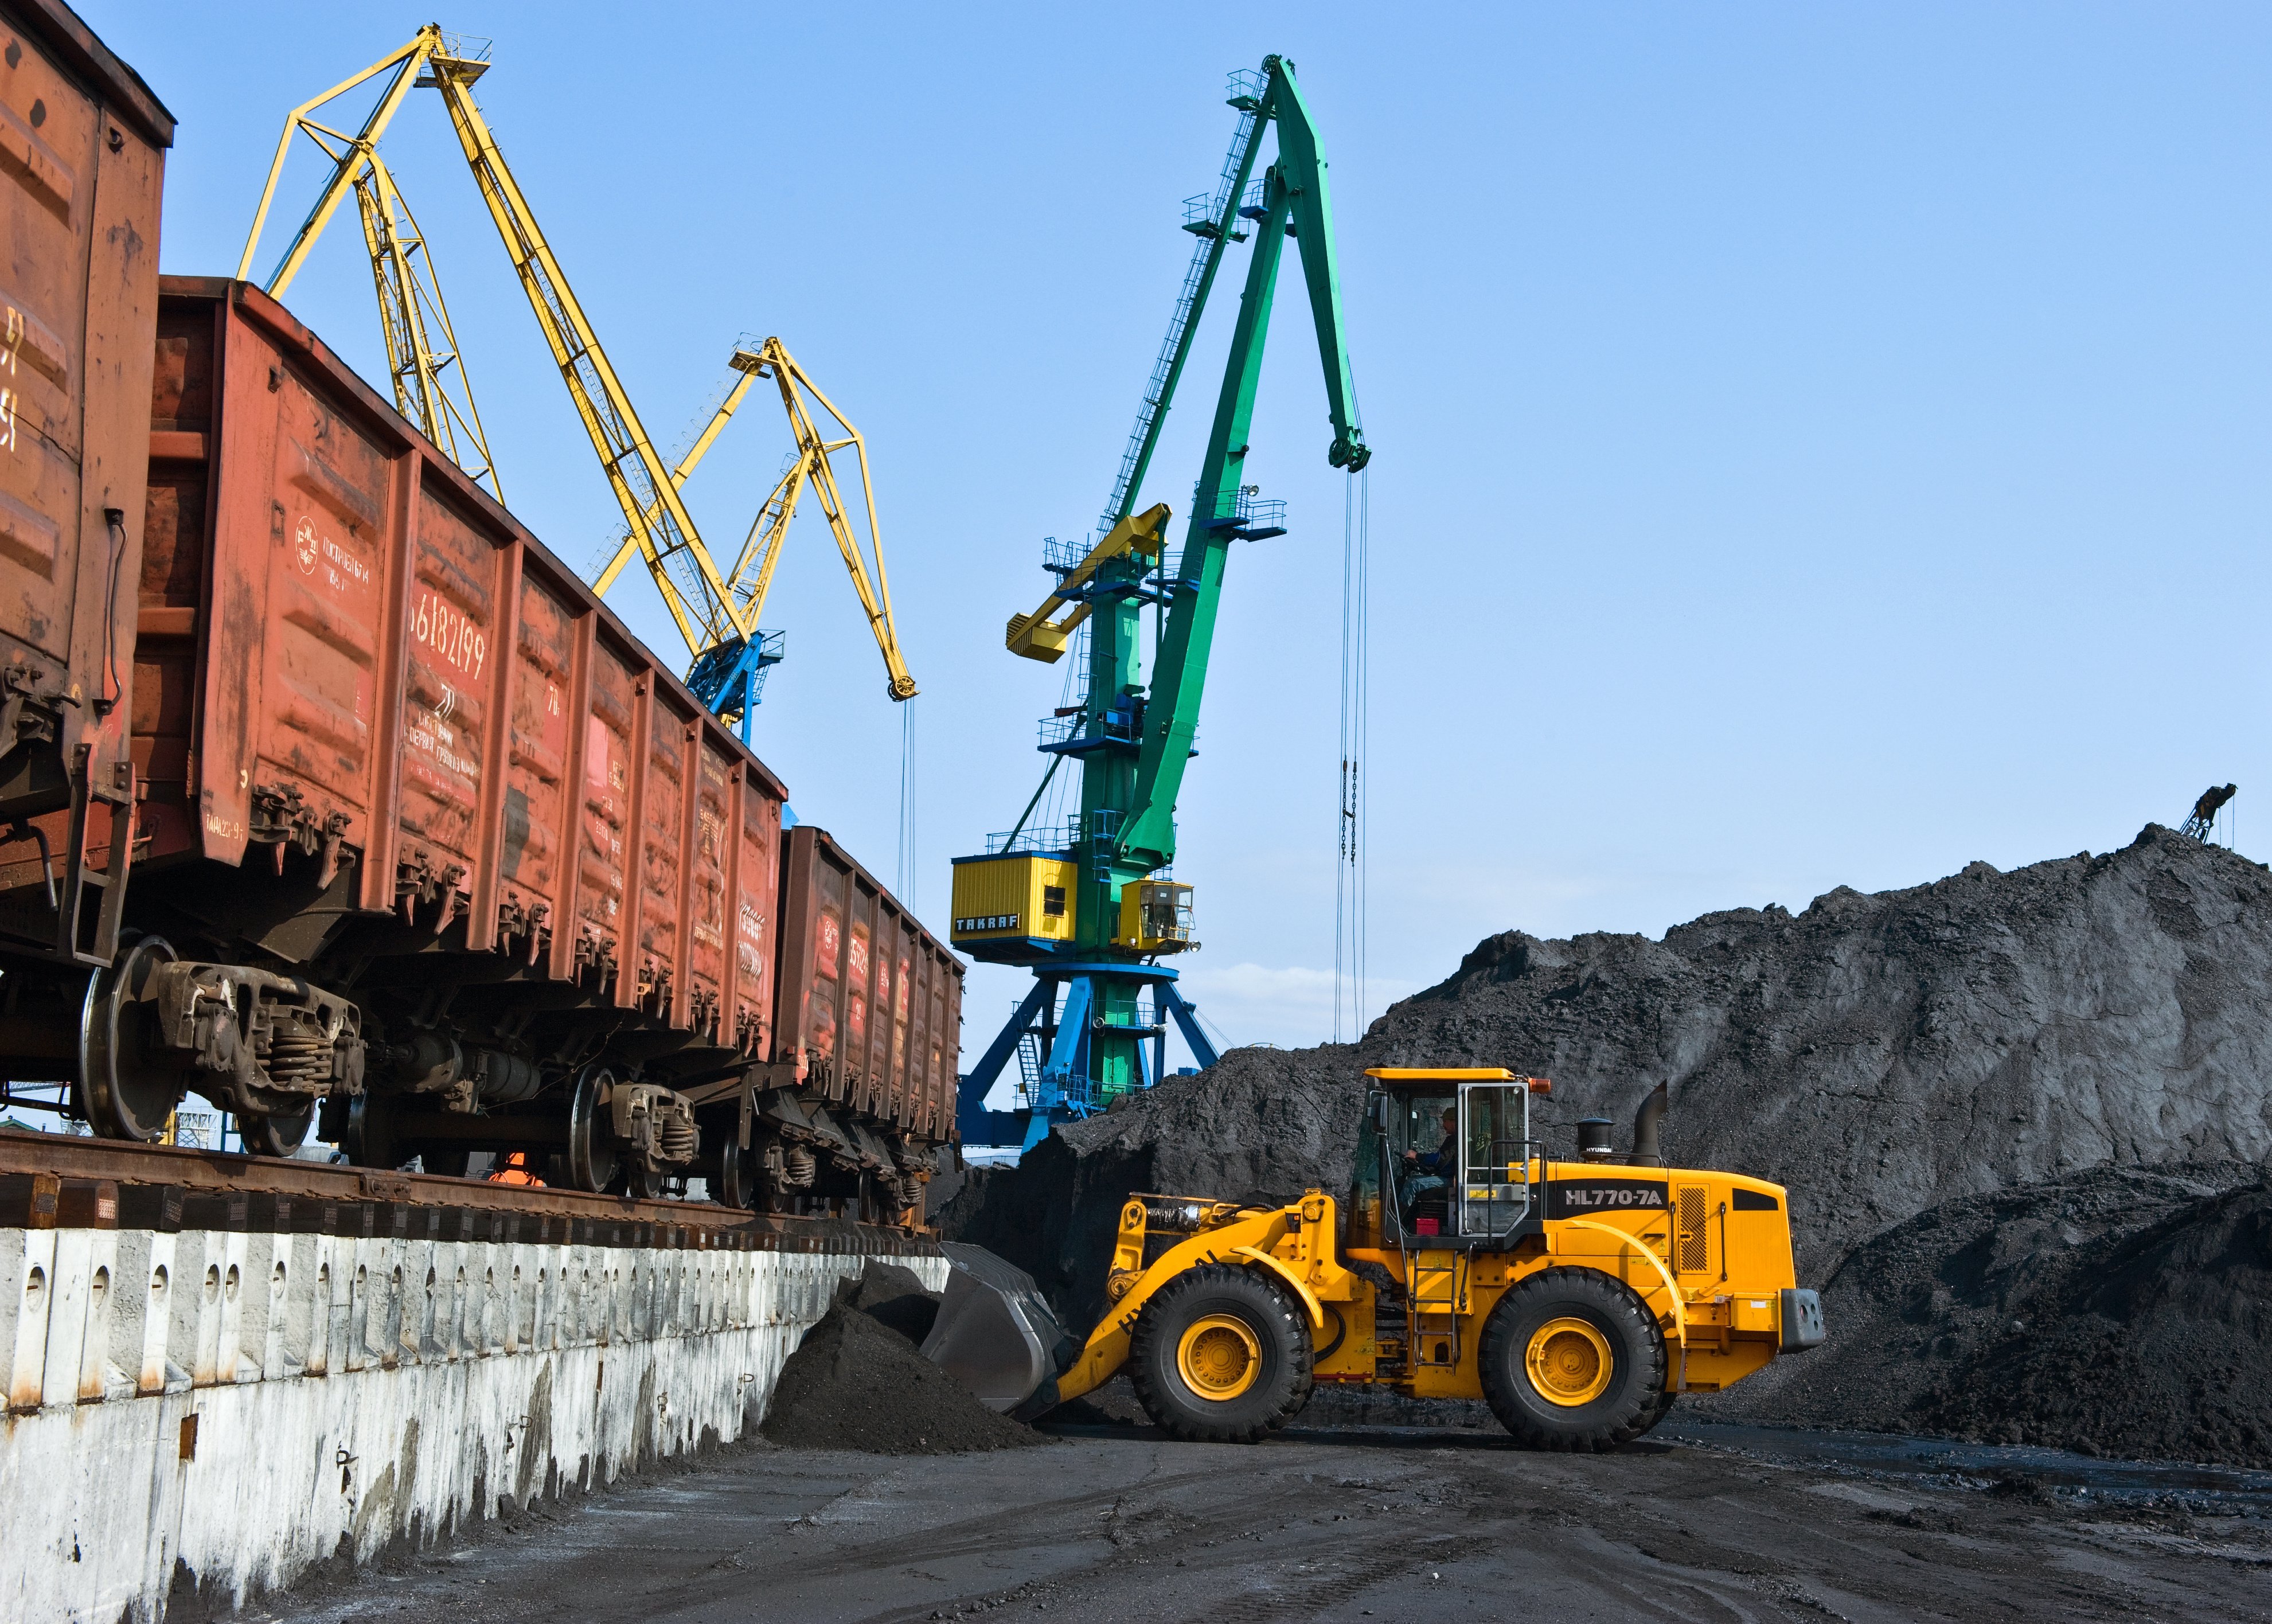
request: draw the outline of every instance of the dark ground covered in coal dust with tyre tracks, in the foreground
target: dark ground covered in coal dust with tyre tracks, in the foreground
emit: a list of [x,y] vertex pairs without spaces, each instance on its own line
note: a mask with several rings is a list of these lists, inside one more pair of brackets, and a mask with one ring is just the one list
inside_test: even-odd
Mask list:
[[1061,1429],[750,1447],[243,1617],[2267,1619],[2272,1474],[1684,1422],[1611,1456],[1484,1429],[1259,1447]]

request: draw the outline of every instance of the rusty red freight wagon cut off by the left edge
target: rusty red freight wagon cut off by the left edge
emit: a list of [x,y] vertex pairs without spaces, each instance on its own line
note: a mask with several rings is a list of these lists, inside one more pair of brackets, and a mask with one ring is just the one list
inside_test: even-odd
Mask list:
[[66,813],[57,906],[5,911],[0,934],[82,965],[109,959],[120,902],[86,840],[134,797],[120,586],[141,529],[170,145],[173,114],[80,18],[0,0],[0,827]]

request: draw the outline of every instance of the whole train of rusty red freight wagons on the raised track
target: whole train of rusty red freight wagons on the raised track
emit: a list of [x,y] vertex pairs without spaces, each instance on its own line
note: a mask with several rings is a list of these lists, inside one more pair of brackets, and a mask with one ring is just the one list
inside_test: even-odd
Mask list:
[[132,68],[57,0],[0,34],[0,1077],[916,1206],[961,961],[284,307],[157,275]]

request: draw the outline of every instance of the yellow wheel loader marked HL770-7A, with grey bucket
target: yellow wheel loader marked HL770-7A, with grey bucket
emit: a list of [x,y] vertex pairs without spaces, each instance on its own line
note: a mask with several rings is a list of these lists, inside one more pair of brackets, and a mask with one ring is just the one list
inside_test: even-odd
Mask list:
[[1663,1086],[1634,1149],[1579,1124],[1574,1161],[1531,1136],[1543,1077],[1365,1072],[1347,1199],[1288,1206],[1136,1195],[1106,1311],[1063,1338],[1034,1281],[977,1247],[925,1351],[982,1399],[1038,1415],[1122,1370],[1161,1431],[1256,1442],[1325,1383],[1484,1399],[1538,1449],[1606,1449],[1681,1392],[1718,1392],[1822,1342],[1781,1186],[1665,1167]]

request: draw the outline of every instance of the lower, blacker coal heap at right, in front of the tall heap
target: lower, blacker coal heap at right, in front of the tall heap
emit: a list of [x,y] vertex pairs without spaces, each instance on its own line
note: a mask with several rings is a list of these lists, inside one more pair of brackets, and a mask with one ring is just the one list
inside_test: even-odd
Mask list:
[[2272,1181],[2093,1167],[1861,1245],[1831,1342],[1711,1408],[2104,1456],[2272,1458]]

